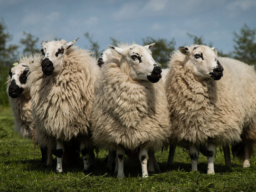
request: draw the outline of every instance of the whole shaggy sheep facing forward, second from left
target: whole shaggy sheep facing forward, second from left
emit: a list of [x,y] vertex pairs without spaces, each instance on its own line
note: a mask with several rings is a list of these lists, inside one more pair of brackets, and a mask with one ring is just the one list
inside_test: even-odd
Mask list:
[[99,66],[92,52],[72,47],[77,40],[42,41],[43,61],[31,66],[28,76],[36,142],[56,148],[57,173],[62,173],[64,144],[81,143],[85,172],[89,151],[93,154],[88,128]]

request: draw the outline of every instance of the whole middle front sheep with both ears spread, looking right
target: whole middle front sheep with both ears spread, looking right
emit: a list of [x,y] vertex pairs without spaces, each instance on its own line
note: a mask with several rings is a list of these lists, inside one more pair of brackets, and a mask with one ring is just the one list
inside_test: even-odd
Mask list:
[[92,139],[100,148],[116,150],[117,178],[124,177],[127,151],[139,153],[142,177],[148,177],[148,150],[156,151],[168,140],[167,100],[161,69],[149,50],[153,46],[109,45],[121,58],[103,64],[95,83]]

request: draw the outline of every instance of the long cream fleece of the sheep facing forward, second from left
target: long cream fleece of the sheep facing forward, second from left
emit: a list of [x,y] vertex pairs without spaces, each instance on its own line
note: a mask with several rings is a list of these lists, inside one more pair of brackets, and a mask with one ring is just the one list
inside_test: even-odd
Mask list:
[[[63,142],[89,134],[94,83],[99,67],[92,53],[70,47],[59,74],[45,76],[41,65],[31,66],[31,86],[36,142],[49,146],[49,140]],[[51,146],[50,146],[51,147]]]

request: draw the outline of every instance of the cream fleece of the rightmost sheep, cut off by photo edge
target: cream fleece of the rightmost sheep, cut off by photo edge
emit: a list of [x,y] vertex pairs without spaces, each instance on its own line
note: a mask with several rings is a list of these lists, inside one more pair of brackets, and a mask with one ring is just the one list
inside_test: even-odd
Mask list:
[[199,81],[185,56],[175,52],[166,77],[171,117],[171,141],[199,145],[207,141],[227,145],[248,137],[256,139],[256,73],[235,59],[221,58],[223,77]]

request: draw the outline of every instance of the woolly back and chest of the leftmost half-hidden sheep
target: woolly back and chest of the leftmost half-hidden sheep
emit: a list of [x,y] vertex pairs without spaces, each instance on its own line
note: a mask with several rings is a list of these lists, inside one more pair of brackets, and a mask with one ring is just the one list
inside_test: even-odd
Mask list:
[[[29,54],[20,57],[19,62],[30,66],[31,64],[40,63],[40,59],[42,59],[42,57],[39,54]],[[10,83],[11,78],[8,76],[7,94]],[[14,130],[19,132],[22,137],[32,138],[34,125],[29,89],[25,88],[18,98],[9,97],[9,102],[14,115]]]

